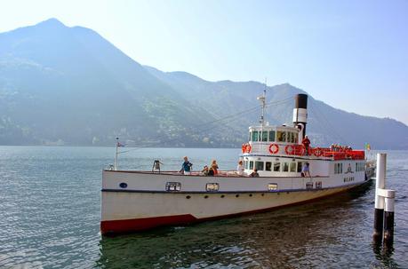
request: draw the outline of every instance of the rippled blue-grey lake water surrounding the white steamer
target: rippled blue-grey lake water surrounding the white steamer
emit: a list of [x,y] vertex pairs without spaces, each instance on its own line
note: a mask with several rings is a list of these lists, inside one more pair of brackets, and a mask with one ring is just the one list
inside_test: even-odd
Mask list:
[[[124,148],[123,150],[128,150]],[[114,148],[0,146],[0,268],[408,268],[408,152],[388,152],[393,249],[372,246],[374,187],[268,213],[100,236],[101,170]],[[239,149],[143,148],[121,168],[196,170]]]

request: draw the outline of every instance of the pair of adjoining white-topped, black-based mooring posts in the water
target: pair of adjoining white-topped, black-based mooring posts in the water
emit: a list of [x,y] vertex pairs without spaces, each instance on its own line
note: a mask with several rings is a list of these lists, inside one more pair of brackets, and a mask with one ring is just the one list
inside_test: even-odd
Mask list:
[[394,204],[396,191],[386,189],[387,154],[377,154],[377,177],[375,181],[375,209],[373,240],[390,245],[394,241]]

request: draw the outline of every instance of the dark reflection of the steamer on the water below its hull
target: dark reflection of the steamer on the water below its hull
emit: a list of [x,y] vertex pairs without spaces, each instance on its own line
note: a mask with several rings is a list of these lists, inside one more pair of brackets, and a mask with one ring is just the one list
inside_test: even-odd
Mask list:
[[[367,199],[364,194],[369,189],[242,218],[103,237],[96,265],[106,268],[368,266],[372,264],[371,248],[362,241],[371,236],[372,224],[369,231],[364,230],[367,225],[361,225],[368,224],[366,206],[362,206],[361,200]],[[347,252],[356,253],[356,257],[344,257]],[[389,257],[381,256],[381,259],[386,263]]]

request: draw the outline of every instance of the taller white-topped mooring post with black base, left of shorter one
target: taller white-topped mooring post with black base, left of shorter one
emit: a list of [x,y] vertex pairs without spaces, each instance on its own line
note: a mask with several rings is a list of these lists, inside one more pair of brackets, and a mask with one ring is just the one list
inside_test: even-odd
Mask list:
[[382,240],[384,224],[384,197],[380,196],[380,189],[385,188],[387,154],[377,154],[377,178],[375,180],[375,209],[374,209],[374,233],[372,238],[378,242]]

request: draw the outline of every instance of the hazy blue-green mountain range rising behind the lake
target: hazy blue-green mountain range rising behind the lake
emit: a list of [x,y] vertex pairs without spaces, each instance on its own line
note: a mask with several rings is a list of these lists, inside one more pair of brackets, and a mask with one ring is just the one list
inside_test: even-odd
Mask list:
[[[88,28],[59,20],[0,34],[0,145],[240,146],[257,123],[257,82],[208,82],[141,66]],[[267,120],[292,122],[290,84],[268,87]],[[315,145],[408,148],[408,127],[309,97]]]

